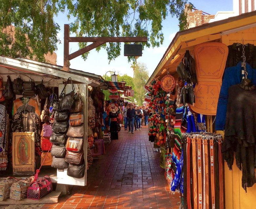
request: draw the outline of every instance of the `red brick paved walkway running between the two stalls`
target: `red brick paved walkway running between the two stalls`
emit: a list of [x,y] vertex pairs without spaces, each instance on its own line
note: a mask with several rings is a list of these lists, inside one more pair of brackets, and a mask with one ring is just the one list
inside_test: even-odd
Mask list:
[[148,128],[128,134],[108,145],[104,159],[94,160],[87,186],[75,186],[57,204],[42,209],[178,209],[179,194],[169,193],[159,153],[148,141]]

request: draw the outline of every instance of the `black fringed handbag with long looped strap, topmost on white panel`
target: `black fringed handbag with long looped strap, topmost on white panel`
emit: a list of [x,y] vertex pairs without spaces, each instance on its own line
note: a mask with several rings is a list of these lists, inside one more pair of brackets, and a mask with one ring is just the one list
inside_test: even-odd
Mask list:
[[[68,81],[71,81],[71,85],[72,85],[72,91],[69,92],[68,94],[64,93],[64,90],[68,84]],[[73,104],[74,104],[74,96],[75,96],[75,87],[72,83],[72,79],[71,77],[68,78],[68,80],[66,81],[66,84],[64,86],[64,88],[61,91],[60,97],[59,97],[59,111],[63,111],[63,110],[71,110]]]

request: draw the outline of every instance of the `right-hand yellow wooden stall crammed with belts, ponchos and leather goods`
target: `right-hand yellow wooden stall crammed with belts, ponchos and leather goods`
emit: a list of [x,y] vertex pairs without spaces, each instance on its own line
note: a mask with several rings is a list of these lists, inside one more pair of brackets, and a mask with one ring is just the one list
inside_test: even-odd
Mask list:
[[145,86],[149,140],[186,209],[254,208],[255,60],[253,11],[178,32]]

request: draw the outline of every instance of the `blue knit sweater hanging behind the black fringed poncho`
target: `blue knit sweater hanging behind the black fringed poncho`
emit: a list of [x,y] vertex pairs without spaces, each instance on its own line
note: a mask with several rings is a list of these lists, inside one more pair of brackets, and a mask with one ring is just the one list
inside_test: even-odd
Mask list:
[[[215,130],[223,131],[226,122],[226,109],[228,99],[228,88],[232,85],[239,84],[242,81],[242,63],[239,62],[234,67],[229,67],[224,72],[224,78],[220,90],[220,96],[217,106],[217,114],[215,120]],[[256,70],[246,62],[247,78],[251,80],[252,84],[256,85]]]

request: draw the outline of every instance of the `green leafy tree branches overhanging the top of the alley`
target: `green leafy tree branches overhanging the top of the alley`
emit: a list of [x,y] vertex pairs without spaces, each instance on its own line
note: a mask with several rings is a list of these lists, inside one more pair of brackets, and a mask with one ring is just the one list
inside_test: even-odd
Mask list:
[[[180,28],[186,28],[186,3],[187,0],[1,0],[0,54],[35,56],[44,61],[44,54],[52,53],[60,42],[60,27],[53,20],[59,12],[75,18],[70,30],[77,36],[147,36],[143,47],[158,47],[164,40],[162,21],[168,15],[179,18]],[[12,33],[6,30],[10,25],[14,26]],[[80,48],[86,45],[79,43]],[[120,55],[121,43],[106,43],[96,50],[101,48],[107,50],[111,61]],[[88,53],[83,58],[87,56]]]

